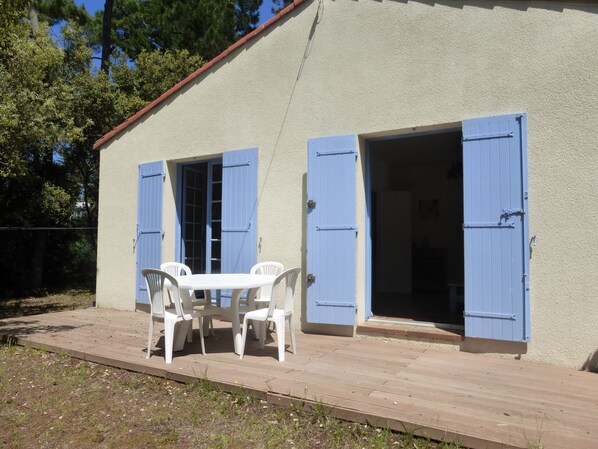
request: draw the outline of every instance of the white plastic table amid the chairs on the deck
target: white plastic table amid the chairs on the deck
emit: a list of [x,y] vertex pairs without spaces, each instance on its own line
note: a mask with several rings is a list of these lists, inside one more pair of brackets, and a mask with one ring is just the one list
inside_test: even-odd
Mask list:
[[[190,276],[176,276],[179,288],[189,290],[232,290],[229,308],[223,308],[233,326],[233,342],[235,354],[241,351],[241,322],[239,320],[239,298],[243,290],[249,290],[247,297],[252,297],[255,290],[266,285],[272,285],[276,276],[266,274],[222,273],[222,274],[192,274]],[[253,291],[252,291],[253,290]],[[229,309],[227,311],[227,309]]]

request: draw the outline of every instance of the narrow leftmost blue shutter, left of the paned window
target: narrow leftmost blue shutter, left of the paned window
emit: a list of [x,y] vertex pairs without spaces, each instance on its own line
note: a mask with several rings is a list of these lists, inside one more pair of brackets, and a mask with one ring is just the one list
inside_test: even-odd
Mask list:
[[162,263],[162,195],[164,163],[139,164],[137,186],[136,300],[149,304],[143,268],[159,268]]

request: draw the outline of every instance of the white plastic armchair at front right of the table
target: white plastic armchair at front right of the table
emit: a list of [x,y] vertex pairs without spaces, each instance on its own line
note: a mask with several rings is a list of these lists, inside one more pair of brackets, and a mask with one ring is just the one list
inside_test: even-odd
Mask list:
[[[293,296],[295,293],[295,285],[301,268],[291,268],[276,278],[272,284],[271,300],[268,307],[252,310],[245,314],[243,318],[243,331],[241,334],[241,354],[243,358],[245,354],[245,341],[247,339],[247,325],[249,321],[258,322],[272,322],[276,329],[276,338],[278,342],[278,361],[284,362],[285,353],[285,321],[289,322],[289,331],[291,335],[291,351],[293,354],[296,353],[295,343],[295,323],[293,321]],[[276,308],[276,300],[278,294],[280,294],[280,286],[284,281],[284,304],[282,309]],[[266,328],[260,326],[260,348],[264,347],[264,341],[266,340]]]

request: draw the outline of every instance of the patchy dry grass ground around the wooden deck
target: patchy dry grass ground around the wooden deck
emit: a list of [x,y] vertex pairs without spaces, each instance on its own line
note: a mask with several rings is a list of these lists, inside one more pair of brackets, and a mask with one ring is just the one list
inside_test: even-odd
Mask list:
[[[85,307],[75,292],[49,299],[58,310]],[[81,298],[84,298],[83,300]],[[43,299],[16,310],[52,310]],[[12,307],[12,306],[10,306]],[[0,302],[0,311],[6,308]],[[324,404],[279,407],[250,392],[221,391],[0,345],[0,448],[410,448],[458,449],[332,417]]]

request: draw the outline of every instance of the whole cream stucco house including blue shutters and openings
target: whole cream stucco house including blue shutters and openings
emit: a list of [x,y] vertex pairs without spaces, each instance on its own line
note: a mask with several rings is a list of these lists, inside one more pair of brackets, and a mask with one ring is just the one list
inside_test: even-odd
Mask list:
[[98,307],[277,260],[303,331],[595,369],[597,43],[595,2],[295,1],[96,143]]

